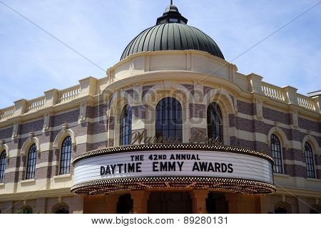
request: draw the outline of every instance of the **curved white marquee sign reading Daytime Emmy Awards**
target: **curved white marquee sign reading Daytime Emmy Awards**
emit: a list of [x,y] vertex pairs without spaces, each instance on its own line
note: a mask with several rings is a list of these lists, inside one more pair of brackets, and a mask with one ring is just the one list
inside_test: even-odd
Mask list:
[[[211,180],[210,185],[215,182],[213,185],[224,189],[231,185],[233,191],[239,188],[238,191],[243,192],[241,186],[245,186],[245,192],[262,193],[260,187],[256,190],[258,184],[273,191],[270,157],[260,152],[242,152],[243,149],[235,147],[228,151],[227,148],[218,145],[137,145],[91,152],[73,161],[72,191],[91,194],[100,192],[99,189],[112,192],[156,185],[174,187],[178,182],[183,184],[183,179],[185,187]],[[220,181],[228,182],[222,184]],[[119,184],[121,182],[123,186]]]

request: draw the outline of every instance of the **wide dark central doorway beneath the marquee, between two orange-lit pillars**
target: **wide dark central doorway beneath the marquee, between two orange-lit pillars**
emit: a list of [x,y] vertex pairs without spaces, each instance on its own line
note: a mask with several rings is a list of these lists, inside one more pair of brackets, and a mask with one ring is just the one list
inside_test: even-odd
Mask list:
[[191,214],[189,192],[151,192],[147,203],[148,214]]

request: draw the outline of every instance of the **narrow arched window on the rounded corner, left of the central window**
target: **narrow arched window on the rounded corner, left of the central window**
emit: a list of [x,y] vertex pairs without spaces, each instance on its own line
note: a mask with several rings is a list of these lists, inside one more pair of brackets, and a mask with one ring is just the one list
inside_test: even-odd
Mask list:
[[121,111],[121,132],[119,145],[131,144],[131,106],[125,105]]

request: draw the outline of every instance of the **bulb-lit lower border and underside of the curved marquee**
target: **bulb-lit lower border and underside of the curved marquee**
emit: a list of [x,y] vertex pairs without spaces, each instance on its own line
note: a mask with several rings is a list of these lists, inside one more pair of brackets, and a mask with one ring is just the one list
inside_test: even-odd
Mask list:
[[255,180],[226,177],[128,177],[86,182],[71,187],[76,195],[104,195],[133,190],[215,190],[246,195],[270,195],[273,185]]

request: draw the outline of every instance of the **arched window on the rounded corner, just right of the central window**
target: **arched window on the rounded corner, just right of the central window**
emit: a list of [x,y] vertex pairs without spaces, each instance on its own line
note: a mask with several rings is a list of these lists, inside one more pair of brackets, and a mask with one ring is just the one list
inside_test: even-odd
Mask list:
[[217,103],[208,105],[208,138],[214,138],[223,144],[223,121],[222,112]]

